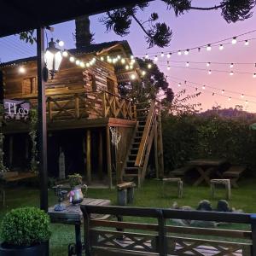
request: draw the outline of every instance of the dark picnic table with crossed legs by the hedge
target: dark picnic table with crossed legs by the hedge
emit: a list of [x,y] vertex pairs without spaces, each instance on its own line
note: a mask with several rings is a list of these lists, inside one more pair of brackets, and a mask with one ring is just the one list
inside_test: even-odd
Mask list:
[[218,167],[222,166],[226,162],[227,161],[224,159],[197,159],[187,162],[187,165],[194,166],[195,170],[200,174],[200,177],[198,177],[193,185],[198,186],[203,181],[206,181],[206,183],[210,185],[210,175],[212,172],[216,172],[216,174],[218,174]]

